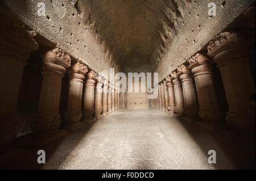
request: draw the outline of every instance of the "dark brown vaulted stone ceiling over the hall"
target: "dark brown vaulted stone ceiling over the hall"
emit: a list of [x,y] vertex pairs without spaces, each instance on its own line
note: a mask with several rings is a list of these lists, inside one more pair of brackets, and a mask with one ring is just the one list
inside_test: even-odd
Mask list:
[[78,0],[75,7],[124,72],[154,71],[183,13],[174,0]]

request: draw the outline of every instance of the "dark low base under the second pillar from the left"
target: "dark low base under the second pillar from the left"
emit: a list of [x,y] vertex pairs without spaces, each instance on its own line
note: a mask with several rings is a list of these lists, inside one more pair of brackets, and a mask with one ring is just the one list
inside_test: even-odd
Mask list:
[[45,146],[58,138],[64,137],[68,131],[60,129],[49,133],[35,134],[32,133],[19,140],[16,145],[18,146]]

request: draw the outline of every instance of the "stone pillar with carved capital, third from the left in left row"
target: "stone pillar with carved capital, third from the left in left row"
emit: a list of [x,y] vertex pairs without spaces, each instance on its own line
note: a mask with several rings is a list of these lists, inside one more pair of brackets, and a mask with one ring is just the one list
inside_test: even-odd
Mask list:
[[73,63],[68,69],[68,110],[64,115],[63,129],[74,131],[85,124],[80,121],[82,118],[82,88],[84,86],[84,75],[88,72],[87,66],[80,62]]

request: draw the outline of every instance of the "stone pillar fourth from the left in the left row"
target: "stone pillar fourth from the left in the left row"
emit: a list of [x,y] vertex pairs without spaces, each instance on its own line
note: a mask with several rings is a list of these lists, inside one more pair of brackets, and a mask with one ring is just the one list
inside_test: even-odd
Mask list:
[[85,82],[85,89],[84,89],[84,122],[91,123],[94,121],[93,114],[94,114],[94,89],[95,83],[97,79],[97,73],[93,70],[90,70],[87,73],[87,79]]

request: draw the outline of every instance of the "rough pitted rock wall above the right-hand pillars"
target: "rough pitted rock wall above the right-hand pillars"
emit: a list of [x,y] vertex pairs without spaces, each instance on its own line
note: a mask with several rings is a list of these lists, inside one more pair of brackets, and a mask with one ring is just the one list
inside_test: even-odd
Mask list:
[[[176,1],[176,0],[175,0]],[[168,51],[162,54],[161,61],[155,72],[159,73],[162,81],[172,70],[188,60],[197,51],[201,50],[214,36],[227,27],[237,18],[253,0],[208,0],[190,1],[184,7],[181,1],[179,6],[181,18],[175,20],[176,35]],[[216,3],[216,16],[208,15],[208,3]]]

